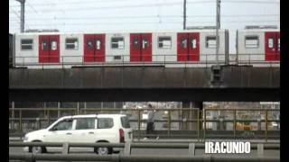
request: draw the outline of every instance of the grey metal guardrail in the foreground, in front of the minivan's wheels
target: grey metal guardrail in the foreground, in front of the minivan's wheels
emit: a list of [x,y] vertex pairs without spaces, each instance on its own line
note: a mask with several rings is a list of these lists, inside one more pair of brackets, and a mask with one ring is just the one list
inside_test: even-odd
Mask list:
[[[25,160],[34,162],[36,160],[81,160],[81,161],[280,161],[280,157],[264,157],[264,149],[279,150],[280,144],[251,144],[251,149],[257,149],[256,157],[211,157],[211,156],[195,156],[195,149],[205,148],[204,143],[61,143],[61,142],[9,142],[9,147],[62,147],[61,154],[9,154],[9,159]],[[95,147],[110,147],[124,148],[122,155],[98,156],[98,155],[71,155],[70,148],[95,148]],[[135,156],[131,155],[132,148],[188,148],[188,156]],[[139,159],[141,158],[141,159]]]

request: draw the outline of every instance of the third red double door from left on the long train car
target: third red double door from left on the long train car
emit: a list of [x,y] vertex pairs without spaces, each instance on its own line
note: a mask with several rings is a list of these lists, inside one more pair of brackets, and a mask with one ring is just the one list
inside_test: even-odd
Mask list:
[[130,61],[152,61],[152,33],[130,34]]

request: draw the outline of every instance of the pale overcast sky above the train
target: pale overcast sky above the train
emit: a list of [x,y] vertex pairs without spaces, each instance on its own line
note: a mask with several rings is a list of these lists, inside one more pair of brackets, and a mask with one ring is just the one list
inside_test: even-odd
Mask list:
[[[61,32],[182,30],[183,0],[26,0],[25,30]],[[216,24],[216,0],[187,0],[187,26]],[[221,28],[235,52],[237,29],[280,26],[279,0],[222,0]],[[9,32],[20,32],[20,4],[9,0]]]

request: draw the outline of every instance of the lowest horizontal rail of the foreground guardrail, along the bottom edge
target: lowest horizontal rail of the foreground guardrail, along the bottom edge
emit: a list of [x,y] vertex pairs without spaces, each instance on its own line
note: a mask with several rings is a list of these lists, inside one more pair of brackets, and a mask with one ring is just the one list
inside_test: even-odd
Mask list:
[[279,162],[280,157],[215,157],[215,156],[200,156],[200,157],[189,157],[189,156],[126,156],[126,155],[111,155],[111,156],[97,156],[97,155],[37,155],[37,154],[9,154],[9,159],[12,160],[26,160],[27,162],[34,162],[36,160],[50,160],[50,161],[112,161],[112,162],[147,162],[147,161],[158,161],[158,162],[203,162],[203,161],[214,161],[214,162]]

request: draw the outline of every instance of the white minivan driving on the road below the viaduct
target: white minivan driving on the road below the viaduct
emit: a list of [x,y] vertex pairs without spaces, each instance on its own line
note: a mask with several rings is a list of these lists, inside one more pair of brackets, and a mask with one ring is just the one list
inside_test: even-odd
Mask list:
[[[64,116],[44,130],[29,132],[24,142],[109,142],[132,140],[132,129],[125,114],[85,114]],[[25,151],[43,153],[51,147],[25,147]],[[120,148],[94,148],[99,155],[119,152]]]

